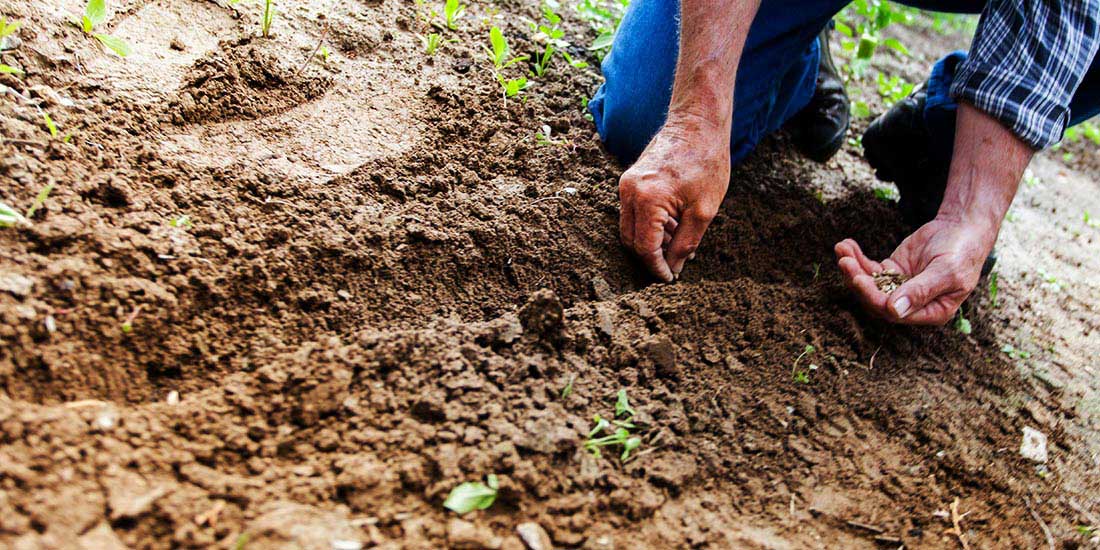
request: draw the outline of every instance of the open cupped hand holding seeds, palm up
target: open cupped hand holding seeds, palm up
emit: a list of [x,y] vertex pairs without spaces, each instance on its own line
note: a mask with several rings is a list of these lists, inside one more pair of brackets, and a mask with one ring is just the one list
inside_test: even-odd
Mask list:
[[[999,228],[936,218],[909,235],[889,258],[875,262],[846,239],[836,244],[848,285],[871,315],[904,324],[946,324],[974,292]],[[872,276],[884,270],[912,278],[888,296]]]

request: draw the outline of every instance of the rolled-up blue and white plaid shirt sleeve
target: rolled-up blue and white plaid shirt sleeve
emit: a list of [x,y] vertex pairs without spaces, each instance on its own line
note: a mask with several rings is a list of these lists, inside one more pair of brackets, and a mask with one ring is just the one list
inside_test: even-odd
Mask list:
[[990,0],[950,95],[1035,148],[1059,140],[1097,54],[1100,0]]

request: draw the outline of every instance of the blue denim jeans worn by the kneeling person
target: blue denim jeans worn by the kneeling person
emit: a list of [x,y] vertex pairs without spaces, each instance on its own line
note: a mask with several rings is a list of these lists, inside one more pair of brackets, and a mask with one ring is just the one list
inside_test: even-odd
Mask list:
[[[848,0],[761,0],[749,29],[737,85],[730,157],[745,158],[779,130],[814,94],[821,57],[817,34]],[[985,0],[906,0],[922,9],[977,13]],[[634,0],[603,63],[604,84],[588,109],[607,150],[632,163],[668,116],[680,47],[679,0]],[[955,66],[966,53],[939,59],[928,80],[925,121],[949,158],[955,101],[948,96]],[[1100,56],[1098,56],[1100,59]],[[1070,103],[1071,123],[1100,113],[1100,62],[1093,62]]]

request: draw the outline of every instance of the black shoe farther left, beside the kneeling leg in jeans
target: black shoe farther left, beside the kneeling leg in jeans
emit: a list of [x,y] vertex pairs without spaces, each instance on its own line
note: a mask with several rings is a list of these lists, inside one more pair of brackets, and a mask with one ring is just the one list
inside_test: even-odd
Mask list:
[[817,36],[821,63],[817,67],[817,88],[810,103],[791,119],[789,129],[794,146],[806,157],[824,163],[844,145],[848,133],[850,105],[844,81],[833,63],[828,50],[829,26]]

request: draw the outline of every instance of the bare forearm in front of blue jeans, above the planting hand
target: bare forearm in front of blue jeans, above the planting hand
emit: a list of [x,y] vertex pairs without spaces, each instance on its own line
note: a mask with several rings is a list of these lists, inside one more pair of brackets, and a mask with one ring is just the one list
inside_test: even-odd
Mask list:
[[734,80],[760,0],[682,0],[680,56],[670,124],[693,124],[728,140]]

